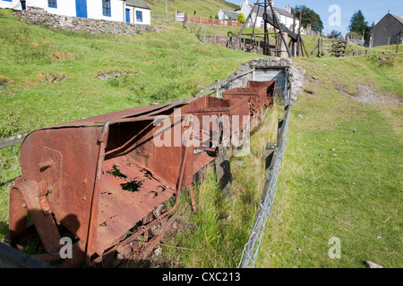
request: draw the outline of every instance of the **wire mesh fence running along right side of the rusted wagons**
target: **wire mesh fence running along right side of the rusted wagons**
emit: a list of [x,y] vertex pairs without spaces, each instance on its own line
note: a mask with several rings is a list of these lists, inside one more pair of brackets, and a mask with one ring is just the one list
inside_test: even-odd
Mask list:
[[244,245],[238,265],[240,268],[268,267],[270,265],[270,251],[282,210],[282,193],[277,191],[277,181],[280,164],[287,149],[289,114],[290,107],[287,105],[284,119],[279,125],[277,143],[270,145],[274,148],[274,153],[271,157],[270,166],[266,169],[266,181],[261,202],[255,216],[251,235]]

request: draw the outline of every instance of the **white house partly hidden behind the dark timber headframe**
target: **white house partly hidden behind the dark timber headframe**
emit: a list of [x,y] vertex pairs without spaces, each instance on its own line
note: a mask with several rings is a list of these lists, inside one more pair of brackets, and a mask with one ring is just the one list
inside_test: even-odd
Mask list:
[[[244,18],[246,19],[252,11],[252,17],[251,20],[249,21],[249,26],[252,26],[254,21],[256,20],[256,25],[255,27],[263,27],[264,26],[264,21],[263,21],[263,13],[264,13],[264,8],[256,6],[253,9],[254,4],[249,4],[248,0],[244,0],[244,3],[242,4],[242,7],[240,10],[236,11],[237,13],[243,13]],[[279,7],[274,7],[274,9],[279,13],[279,21],[285,25],[288,29],[293,30],[293,24],[294,24],[294,15],[291,13],[291,6],[288,5],[286,9],[281,9]],[[270,7],[267,9],[267,13],[271,15],[271,10]],[[268,25],[269,28],[272,28],[271,25]],[[296,19],[296,30],[299,28],[299,20]]]

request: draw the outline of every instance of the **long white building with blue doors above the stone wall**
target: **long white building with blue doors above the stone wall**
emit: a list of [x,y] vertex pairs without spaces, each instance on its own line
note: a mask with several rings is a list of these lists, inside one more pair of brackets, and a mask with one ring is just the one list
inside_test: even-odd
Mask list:
[[[26,0],[27,10],[81,18],[150,25],[150,7],[143,0]],[[0,8],[21,10],[20,0],[0,0]]]

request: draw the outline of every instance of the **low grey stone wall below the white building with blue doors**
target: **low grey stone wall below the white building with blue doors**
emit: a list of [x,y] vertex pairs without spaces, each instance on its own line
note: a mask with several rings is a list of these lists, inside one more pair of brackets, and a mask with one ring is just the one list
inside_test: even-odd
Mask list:
[[15,14],[17,14],[23,22],[53,29],[68,29],[115,35],[137,35],[154,30],[150,25],[61,16],[36,10],[19,11],[15,12]]

